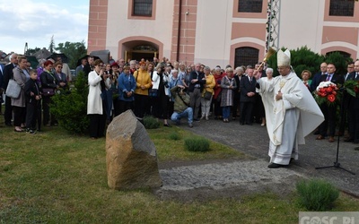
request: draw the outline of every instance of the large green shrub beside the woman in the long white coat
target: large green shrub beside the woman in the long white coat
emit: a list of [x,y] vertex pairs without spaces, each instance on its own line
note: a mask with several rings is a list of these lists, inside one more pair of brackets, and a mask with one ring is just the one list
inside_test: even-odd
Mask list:
[[77,74],[74,88],[63,90],[52,97],[50,112],[57,117],[58,124],[67,131],[84,134],[89,128],[87,95],[89,89],[83,72]]

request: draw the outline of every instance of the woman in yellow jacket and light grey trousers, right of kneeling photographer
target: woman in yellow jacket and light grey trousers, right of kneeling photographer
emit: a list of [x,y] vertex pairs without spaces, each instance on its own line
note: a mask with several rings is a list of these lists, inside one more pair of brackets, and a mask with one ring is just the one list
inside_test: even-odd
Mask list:
[[209,120],[209,110],[211,108],[213,95],[215,94],[215,76],[213,76],[213,74],[211,73],[211,69],[208,66],[204,68],[204,73],[206,78],[206,84],[205,88],[203,88],[201,97],[201,119],[206,117],[206,120]]

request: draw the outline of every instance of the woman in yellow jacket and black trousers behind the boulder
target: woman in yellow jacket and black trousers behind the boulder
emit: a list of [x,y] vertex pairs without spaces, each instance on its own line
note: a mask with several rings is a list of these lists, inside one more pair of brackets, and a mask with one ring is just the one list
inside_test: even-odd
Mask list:
[[147,72],[145,62],[139,63],[140,68],[135,71],[136,80],[135,90],[135,115],[142,122],[144,112],[148,105],[148,90],[152,87],[151,75]]

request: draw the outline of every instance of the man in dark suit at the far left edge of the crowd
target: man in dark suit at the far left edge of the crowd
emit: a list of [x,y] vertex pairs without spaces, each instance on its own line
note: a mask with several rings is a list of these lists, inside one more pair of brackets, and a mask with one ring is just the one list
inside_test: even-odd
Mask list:
[[[17,54],[13,53],[10,57],[10,63],[4,66],[4,82],[3,89],[6,91],[7,85],[10,79],[13,79],[13,68],[17,66]],[[11,126],[11,120],[13,117],[13,107],[11,106],[11,98],[5,98],[5,111],[4,111],[4,123],[5,125]]]

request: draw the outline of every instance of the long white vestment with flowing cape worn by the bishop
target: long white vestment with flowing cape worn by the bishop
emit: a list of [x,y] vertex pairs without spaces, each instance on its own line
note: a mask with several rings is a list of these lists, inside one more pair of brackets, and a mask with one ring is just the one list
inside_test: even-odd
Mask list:
[[[288,165],[291,158],[298,159],[298,144],[305,143],[304,137],[320,125],[324,116],[296,73],[270,81],[261,78],[258,83],[266,109],[270,162]],[[276,100],[279,91],[282,99]]]

